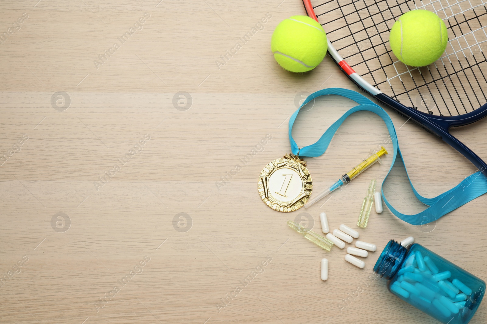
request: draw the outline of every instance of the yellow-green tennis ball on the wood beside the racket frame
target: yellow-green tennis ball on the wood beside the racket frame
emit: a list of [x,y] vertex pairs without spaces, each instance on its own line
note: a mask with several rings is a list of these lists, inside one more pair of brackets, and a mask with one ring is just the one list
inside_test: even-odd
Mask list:
[[277,63],[291,72],[316,68],[328,49],[323,27],[308,16],[282,20],[272,34],[271,50]]

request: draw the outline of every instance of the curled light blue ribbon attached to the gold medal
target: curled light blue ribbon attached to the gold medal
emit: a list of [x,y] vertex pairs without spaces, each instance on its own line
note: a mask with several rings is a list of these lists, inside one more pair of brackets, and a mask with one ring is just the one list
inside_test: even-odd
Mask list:
[[[359,105],[353,107],[352,109],[348,110],[342,117],[340,117],[336,122],[329,127],[326,132],[318,139],[318,141],[312,145],[305,146],[301,149],[298,148],[298,145],[293,139],[292,136],[292,129],[294,121],[298,116],[298,113],[302,106],[306,103],[324,95],[338,95],[342,97],[346,97],[357,102]],[[371,100],[367,99],[366,97],[362,96],[361,94],[357,93],[353,90],[342,89],[342,88],[329,88],[319,90],[315,93],[306,98],[306,100],[301,104],[300,108],[294,112],[289,119],[289,142],[291,143],[291,150],[293,154],[300,154],[300,156],[320,156],[321,154],[325,153],[330,141],[332,140],[333,136],[335,135],[338,127],[343,123],[345,119],[347,119],[350,115],[357,111],[370,111],[374,114],[378,115],[384,122],[386,123],[387,129],[389,131],[389,135],[392,138],[393,142],[393,161],[391,164],[391,168],[389,172],[387,172],[384,181],[382,182],[382,197],[384,202],[389,207],[389,209],[393,212],[395,216],[399,219],[403,220],[404,222],[408,222],[412,225],[420,225],[432,222],[434,220],[439,219],[445,214],[448,214],[450,211],[460,207],[461,205],[467,204],[469,201],[477,198],[478,196],[483,195],[487,192],[487,177],[482,174],[482,172],[477,171],[474,174],[471,174],[467,178],[465,178],[462,182],[460,182],[454,188],[451,188],[447,192],[442,193],[439,196],[434,198],[426,198],[421,196],[414,186],[412,185],[411,179],[409,179],[408,171],[406,170],[406,164],[404,163],[404,159],[402,158],[401,151],[399,150],[399,143],[397,142],[397,135],[394,129],[394,124],[386,113],[384,109],[379,107],[377,104],[372,102]],[[425,205],[429,207],[426,208],[424,211],[415,214],[415,215],[406,215],[398,212],[386,199],[384,195],[384,183],[391,172],[391,169],[394,166],[394,162],[396,157],[399,156],[401,161],[404,164],[404,169],[406,170],[406,174],[408,174],[409,183],[411,185],[412,191],[416,198]]]

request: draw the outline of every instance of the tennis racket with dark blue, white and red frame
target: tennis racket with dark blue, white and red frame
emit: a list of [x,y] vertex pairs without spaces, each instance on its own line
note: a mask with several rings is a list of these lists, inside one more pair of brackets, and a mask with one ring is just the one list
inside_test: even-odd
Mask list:
[[[450,134],[487,115],[487,0],[302,1],[323,26],[331,58],[355,85],[443,139],[487,176],[487,164]],[[448,28],[446,51],[427,67],[406,66],[389,44],[395,20],[414,9],[436,13]]]

